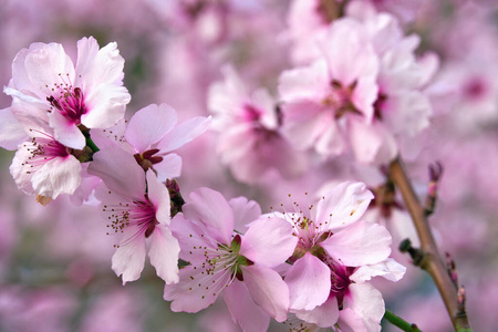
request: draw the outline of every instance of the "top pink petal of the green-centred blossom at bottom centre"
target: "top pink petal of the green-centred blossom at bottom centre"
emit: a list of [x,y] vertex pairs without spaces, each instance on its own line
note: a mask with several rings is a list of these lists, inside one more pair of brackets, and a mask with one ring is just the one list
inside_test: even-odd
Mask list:
[[190,203],[184,205],[183,210],[186,219],[204,225],[219,242],[231,242],[234,211],[220,193],[199,188],[190,194]]

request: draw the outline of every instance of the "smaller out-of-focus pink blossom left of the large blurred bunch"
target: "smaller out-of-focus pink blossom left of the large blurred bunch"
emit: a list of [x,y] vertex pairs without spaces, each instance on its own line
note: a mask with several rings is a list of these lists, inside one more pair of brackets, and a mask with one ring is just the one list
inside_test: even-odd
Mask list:
[[300,175],[305,159],[280,134],[279,114],[269,93],[262,89],[249,93],[231,66],[224,68],[224,75],[208,96],[221,162],[243,183],[261,180],[269,170],[286,178]]

